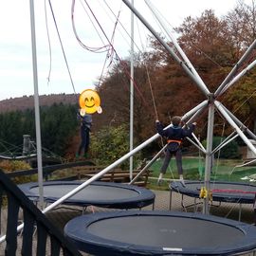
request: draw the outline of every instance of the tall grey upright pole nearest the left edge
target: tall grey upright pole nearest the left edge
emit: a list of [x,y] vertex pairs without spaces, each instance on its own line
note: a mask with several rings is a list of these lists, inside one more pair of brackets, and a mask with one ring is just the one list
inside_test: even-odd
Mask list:
[[39,206],[42,210],[44,208],[44,189],[43,189],[43,167],[42,167],[40,110],[39,110],[39,96],[38,96],[35,16],[34,16],[34,2],[33,2],[33,0],[30,0],[30,24],[31,24],[33,81],[34,81],[34,107],[35,107],[35,125],[36,125],[36,150],[37,150],[37,168],[38,168],[38,185],[39,185]]

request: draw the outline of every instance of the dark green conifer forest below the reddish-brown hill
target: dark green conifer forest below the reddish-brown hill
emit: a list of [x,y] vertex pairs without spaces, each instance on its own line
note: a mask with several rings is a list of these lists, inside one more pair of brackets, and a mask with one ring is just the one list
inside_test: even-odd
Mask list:
[[[40,122],[42,146],[56,155],[64,156],[67,148],[76,135],[78,107],[71,104],[52,104],[41,106]],[[22,152],[23,135],[36,139],[35,114],[33,109],[11,111],[0,114],[0,153],[13,151]],[[8,146],[6,143],[8,142]]]

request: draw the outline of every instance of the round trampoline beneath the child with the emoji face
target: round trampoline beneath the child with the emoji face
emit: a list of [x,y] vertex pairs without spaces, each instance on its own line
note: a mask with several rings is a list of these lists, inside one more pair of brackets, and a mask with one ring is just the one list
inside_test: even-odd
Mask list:
[[[44,199],[53,203],[71,192],[82,181],[47,181],[44,182]],[[37,182],[26,183],[19,188],[32,200],[39,199],[39,186]],[[81,207],[98,206],[113,209],[142,208],[155,202],[155,193],[137,186],[120,183],[95,181],[66,199],[63,204]]]

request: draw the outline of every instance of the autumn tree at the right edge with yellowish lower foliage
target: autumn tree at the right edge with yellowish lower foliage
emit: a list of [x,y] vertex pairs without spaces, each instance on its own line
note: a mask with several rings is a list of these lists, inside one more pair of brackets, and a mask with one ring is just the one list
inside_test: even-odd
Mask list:
[[[227,33],[229,41],[232,42],[236,59],[239,59],[247,50],[247,47],[255,40],[256,35],[256,9],[255,0],[251,5],[239,1],[235,9],[229,11],[225,16],[228,25]],[[237,68],[237,75],[255,60],[256,51],[253,50],[244,64]],[[256,131],[256,91],[255,91],[256,70],[251,69],[239,82],[229,88],[225,95],[225,101],[229,110],[251,129]]]

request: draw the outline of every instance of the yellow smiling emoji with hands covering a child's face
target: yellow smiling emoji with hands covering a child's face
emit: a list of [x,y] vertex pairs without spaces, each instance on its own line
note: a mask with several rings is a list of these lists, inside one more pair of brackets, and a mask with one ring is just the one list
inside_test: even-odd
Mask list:
[[92,89],[87,89],[82,91],[79,97],[79,104],[80,104],[82,113],[84,113],[84,115],[85,113],[86,114],[94,114],[95,112],[99,114],[102,113],[100,96],[96,91]]

